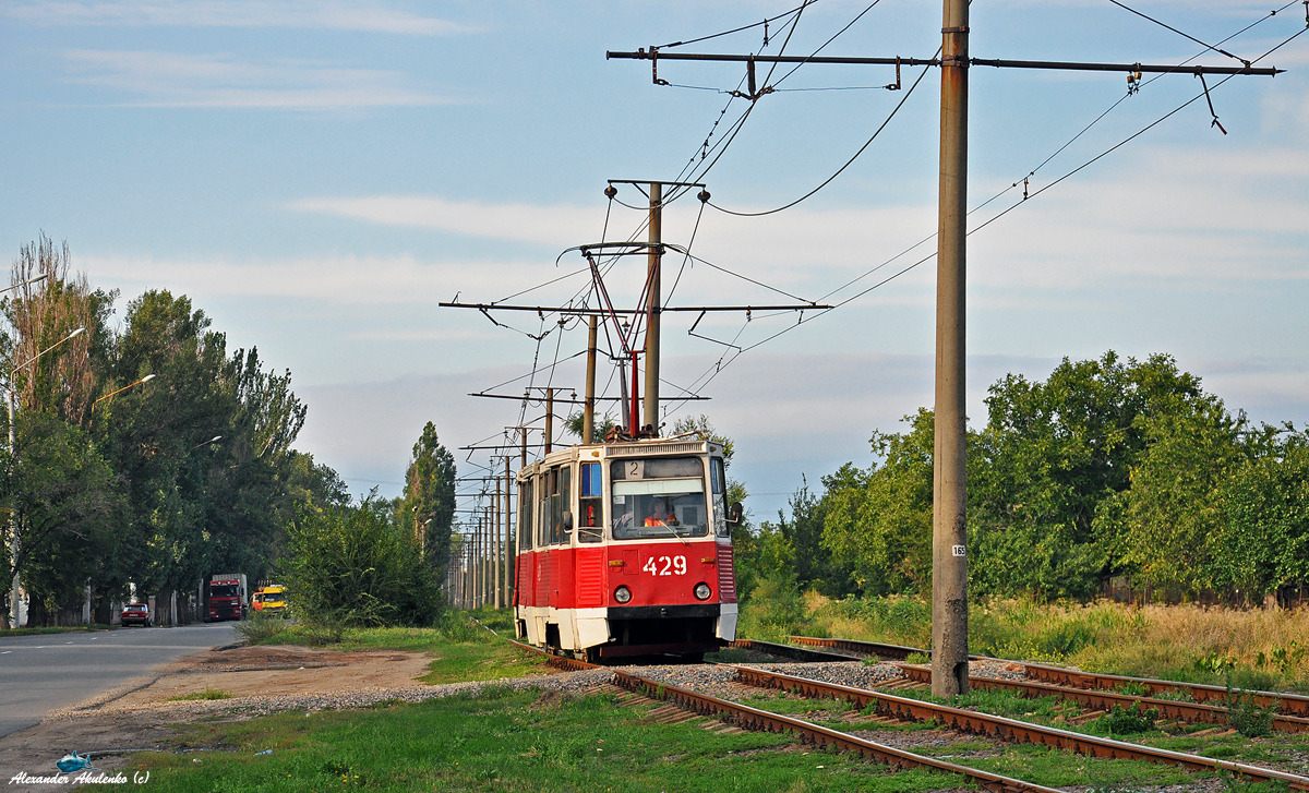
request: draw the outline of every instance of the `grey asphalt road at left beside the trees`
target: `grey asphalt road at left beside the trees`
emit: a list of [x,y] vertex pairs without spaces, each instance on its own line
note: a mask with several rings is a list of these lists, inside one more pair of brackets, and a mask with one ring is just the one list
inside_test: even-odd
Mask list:
[[50,711],[109,691],[160,663],[230,644],[236,641],[234,626],[0,635],[0,737],[39,724]]

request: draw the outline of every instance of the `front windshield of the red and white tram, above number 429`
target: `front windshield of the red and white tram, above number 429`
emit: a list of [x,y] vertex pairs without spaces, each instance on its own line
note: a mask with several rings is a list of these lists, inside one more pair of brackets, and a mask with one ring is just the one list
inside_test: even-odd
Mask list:
[[706,537],[704,463],[695,457],[614,461],[614,539]]

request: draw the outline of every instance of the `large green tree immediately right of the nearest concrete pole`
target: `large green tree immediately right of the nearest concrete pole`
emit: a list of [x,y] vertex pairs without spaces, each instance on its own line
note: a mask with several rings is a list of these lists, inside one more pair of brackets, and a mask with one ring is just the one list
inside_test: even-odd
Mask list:
[[1152,416],[1203,402],[1172,357],[1113,351],[1064,359],[1045,382],[1009,374],[990,389],[969,455],[970,580],[991,594],[1088,597],[1128,564],[1100,543],[1096,516],[1131,487]]

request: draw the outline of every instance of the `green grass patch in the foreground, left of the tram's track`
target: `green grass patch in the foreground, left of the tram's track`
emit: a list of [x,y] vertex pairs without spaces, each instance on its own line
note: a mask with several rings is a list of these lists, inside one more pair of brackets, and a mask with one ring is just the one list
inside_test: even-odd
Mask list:
[[418,705],[188,725],[178,749],[226,751],[140,754],[130,769],[149,771],[152,785],[178,793],[914,793],[962,784],[950,775],[891,773],[787,735],[660,725],[644,718],[648,711],[617,707],[610,696],[562,700],[535,690],[492,688]]

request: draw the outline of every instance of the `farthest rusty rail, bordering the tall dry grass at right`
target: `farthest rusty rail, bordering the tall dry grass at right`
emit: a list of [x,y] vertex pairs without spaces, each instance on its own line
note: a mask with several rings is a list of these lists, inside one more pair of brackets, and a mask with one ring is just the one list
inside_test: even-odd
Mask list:
[[[895,644],[877,644],[873,641],[859,641],[855,639],[818,639],[813,636],[791,636],[791,641],[806,646],[822,646],[846,650],[848,653],[874,653],[882,658],[907,658],[910,653],[923,653],[931,656],[924,649],[907,648]],[[1126,675],[1106,675],[1072,669],[1060,669],[1046,663],[1030,663],[1026,661],[1011,661],[1008,658],[991,658],[988,656],[969,656],[975,661],[1001,661],[1021,666],[1029,678],[1058,686],[1073,688],[1118,688],[1119,686],[1144,686],[1149,694],[1181,694],[1190,696],[1195,703],[1225,701],[1228,690],[1223,686],[1206,686],[1203,683],[1179,683],[1175,680],[1158,680],[1153,678],[1130,678]],[[1233,694],[1250,695],[1255,703],[1263,707],[1278,705],[1282,716],[1296,716],[1309,718],[1309,696],[1299,694],[1280,694],[1276,691],[1255,691],[1249,688],[1233,688]]]

